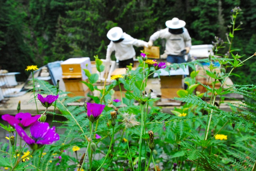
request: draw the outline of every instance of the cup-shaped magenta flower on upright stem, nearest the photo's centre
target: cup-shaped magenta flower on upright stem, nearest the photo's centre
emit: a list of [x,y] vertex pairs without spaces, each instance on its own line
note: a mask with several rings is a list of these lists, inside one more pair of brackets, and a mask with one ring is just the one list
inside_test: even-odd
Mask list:
[[96,103],[88,103],[87,105],[87,117],[91,122],[96,121],[99,118],[99,115],[102,113],[105,105],[100,105]]

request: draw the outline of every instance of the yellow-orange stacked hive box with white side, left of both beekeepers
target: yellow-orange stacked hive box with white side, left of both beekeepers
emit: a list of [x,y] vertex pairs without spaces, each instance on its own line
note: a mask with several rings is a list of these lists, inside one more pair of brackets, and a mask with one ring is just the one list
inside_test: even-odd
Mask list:
[[86,96],[89,92],[88,87],[81,81],[86,81],[88,77],[85,75],[83,69],[88,69],[92,72],[91,61],[88,57],[83,58],[70,58],[61,64],[62,79],[65,84],[69,96]]

